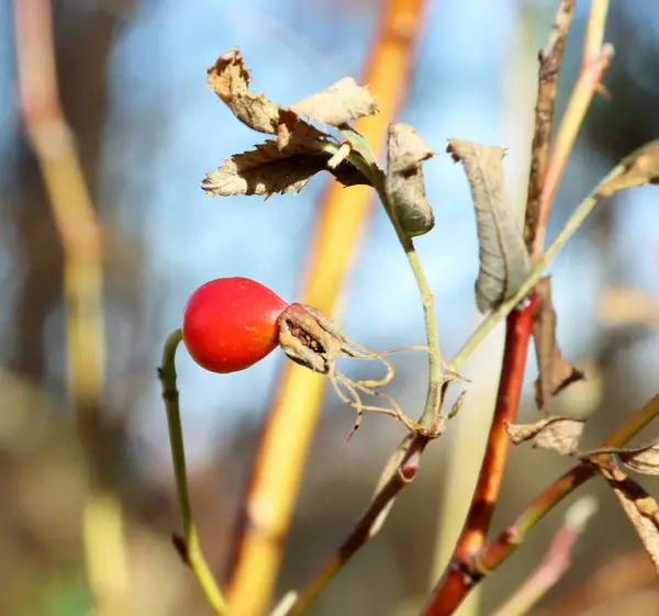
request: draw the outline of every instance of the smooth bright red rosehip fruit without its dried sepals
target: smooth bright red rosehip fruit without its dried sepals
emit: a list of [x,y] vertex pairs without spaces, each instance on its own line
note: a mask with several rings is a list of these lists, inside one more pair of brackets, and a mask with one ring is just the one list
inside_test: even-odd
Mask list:
[[248,278],[219,278],[190,295],[181,326],[192,359],[211,372],[245,370],[279,344],[278,316],[288,304]]

